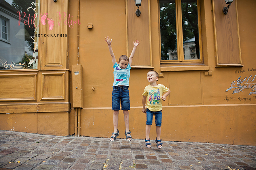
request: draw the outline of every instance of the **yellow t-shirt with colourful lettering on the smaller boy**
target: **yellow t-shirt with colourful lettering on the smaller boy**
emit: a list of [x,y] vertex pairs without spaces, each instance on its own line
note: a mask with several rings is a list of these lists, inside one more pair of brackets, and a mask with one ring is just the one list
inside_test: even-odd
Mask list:
[[143,96],[147,96],[146,107],[152,112],[158,112],[162,110],[162,100],[161,96],[163,92],[167,92],[169,88],[162,84],[157,84],[156,87],[148,85],[145,87]]

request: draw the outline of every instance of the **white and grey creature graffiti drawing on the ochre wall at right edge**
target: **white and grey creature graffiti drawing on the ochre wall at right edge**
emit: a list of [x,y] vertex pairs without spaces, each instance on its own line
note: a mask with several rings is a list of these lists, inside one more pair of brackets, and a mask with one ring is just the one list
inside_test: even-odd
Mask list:
[[234,94],[241,92],[243,89],[250,88],[252,91],[249,93],[249,95],[256,94],[256,75],[254,76],[253,80],[251,79],[252,75],[250,75],[248,79],[247,77],[244,78],[244,80],[240,79],[241,77],[242,76],[240,76],[236,81],[233,81],[231,83],[231,86],[226,90],[226,92],[228,90],[231,90],[232,88],[235,88],[232,93]]

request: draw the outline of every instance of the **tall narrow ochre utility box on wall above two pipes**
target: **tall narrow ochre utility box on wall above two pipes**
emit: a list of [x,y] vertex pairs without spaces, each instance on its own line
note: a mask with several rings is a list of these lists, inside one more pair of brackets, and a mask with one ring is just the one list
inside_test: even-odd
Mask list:
[[83,108],[83,67],[72,65],[72,96],[73,108]]

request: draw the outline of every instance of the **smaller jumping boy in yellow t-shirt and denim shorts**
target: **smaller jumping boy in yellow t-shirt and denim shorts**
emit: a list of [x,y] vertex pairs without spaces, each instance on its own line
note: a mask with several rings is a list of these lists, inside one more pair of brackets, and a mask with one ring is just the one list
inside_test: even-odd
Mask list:
[[[142,98],[142,112],[147,114],[147,122],[146,122],[146,147],[151,148],[150,143],[150,128],[153,122],[153,115],[155,115],[156,119],[156,145],[158,149],[162,148],[162,142],[160,139],[161,136],[161,125],[162,125],[162,101],[166,100],[166,97],[170,94],[169,88],[165,87],[162,84],[157,84],[158,81],[158,73],[154,70],[150,70],[147,72],[147,81],[150,85],[146,86],[143,92]],[[164,95],[163,92],[166,92]],[[145,108],[147,99],[147,105]]]

